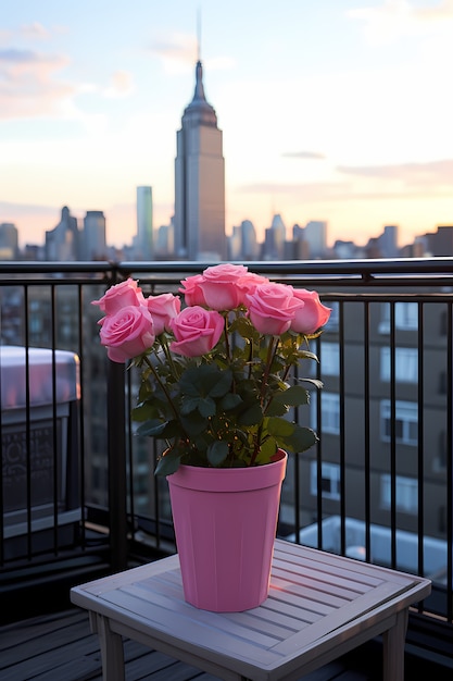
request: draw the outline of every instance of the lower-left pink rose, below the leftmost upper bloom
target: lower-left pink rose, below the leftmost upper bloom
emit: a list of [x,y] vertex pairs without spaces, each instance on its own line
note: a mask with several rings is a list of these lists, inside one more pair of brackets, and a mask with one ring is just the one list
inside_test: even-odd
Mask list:
[[148,350],[155,340],[151,314],[143,306],[129,305],[100,321],[99,332],[102,345],[108,348],[109,358],[124,363]]

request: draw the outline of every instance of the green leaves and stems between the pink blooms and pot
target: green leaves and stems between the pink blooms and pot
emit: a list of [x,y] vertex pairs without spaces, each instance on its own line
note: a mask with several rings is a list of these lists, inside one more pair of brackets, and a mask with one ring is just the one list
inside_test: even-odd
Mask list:
[[[225,333],[197,359],[168,352],[164,332],[150,351],[134,360],[141,383],[133,419],[137,433],[166,447],[155,473],[169,475],[179,463],[213,467],[269,462],[278,448],[305,451],[316,434],[288,418],[309,404],[306,382],[293,376],[305,361],[317,361],[307,338],[257,333],[243,310],[225,313]],[[302,349],[301,349],[302,348]]]

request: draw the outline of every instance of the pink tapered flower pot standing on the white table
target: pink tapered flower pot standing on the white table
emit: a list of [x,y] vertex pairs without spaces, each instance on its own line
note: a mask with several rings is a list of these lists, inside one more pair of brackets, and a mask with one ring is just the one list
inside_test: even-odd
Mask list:
[[266,599],[288,455],[252,468],[180,466],[167,476],[185,599],[238,612]]

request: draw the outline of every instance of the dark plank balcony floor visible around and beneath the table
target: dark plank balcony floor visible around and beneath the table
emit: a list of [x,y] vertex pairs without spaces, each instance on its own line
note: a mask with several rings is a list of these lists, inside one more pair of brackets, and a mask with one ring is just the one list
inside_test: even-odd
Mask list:
[[[162,653],[125,641],[126,681],[215,681]],[[452,669],[406,654],[405,678],[451,681]],[[71,608],[0,627],[2,681],[102,681],[99,643],[88,615]],[[381,644],[372,641],[304,677],[304,681],[377,681]]]

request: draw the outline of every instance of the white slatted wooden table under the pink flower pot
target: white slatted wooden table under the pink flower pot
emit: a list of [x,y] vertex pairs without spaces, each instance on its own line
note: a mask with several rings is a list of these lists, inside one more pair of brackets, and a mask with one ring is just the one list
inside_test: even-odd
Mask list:
[[277,540],[259,608],[209,612],[187,604],[178,556],[71,590],[100,636],[104,681],[124,681],[123,636],[227,681],[295,681],[383,634],[383,678],[403,681],[411,605],[431,582]]

